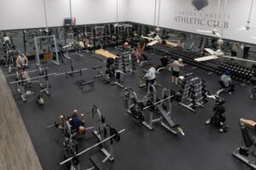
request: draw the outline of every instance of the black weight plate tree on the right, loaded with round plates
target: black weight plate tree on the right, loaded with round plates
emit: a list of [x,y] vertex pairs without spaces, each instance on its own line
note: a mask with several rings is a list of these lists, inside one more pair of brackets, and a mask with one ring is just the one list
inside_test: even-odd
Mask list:
[[226,117],[224,116],[225,108],[224,108],[225,100],[216,97],[216,105],[213,107],[214,115],[206,121],[206,125],[212,124],[217,127],[220,133],[225,133],[229,129],[229,125],[227,125]]

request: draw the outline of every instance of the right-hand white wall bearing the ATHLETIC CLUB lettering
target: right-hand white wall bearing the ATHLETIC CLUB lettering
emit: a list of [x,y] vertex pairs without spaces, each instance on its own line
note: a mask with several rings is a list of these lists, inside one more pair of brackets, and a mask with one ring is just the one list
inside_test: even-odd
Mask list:
[[[208,0],[209,5],[200,11],[197,11],[195,7],[192,6],[191,1],[192,0],[161,0],[160,26],[194,33],[199,33],[196,30],[212,30],[211,26],[207,26],[207,21],[213,20],[210,17],[210,14],[217,14],[216,9],[218,0]],[[223,2],[221,4],[221,9],[223,9],[224,0],[221,2]],[[241,42],[256,43],[255,39],[250,38],[256,37],[256,30],[237,31],[237,28],[245,26],[247,23],[250,4],[251,0],[229,0],[228,9],[226,11],[227,16],[230,16],[226,19],[229,26],[224,29],[224,38]],[[147,9],[141,10],[142,7]],[[184,12],[184,14],[180,14],[180,12]],[[221,13],[222,12],[223,10],[221,10]],[[154,20],[154,0],[129,0],[128,13],[128,20],[152,25],[152,20]],[[194,16],[189,16],[189,14]],[[206,17],[205,14],[208,14],[208,17]],[[202,24],[205,26],[177,22],[175,21],[176,16],[201,19],[203,21]],[[256,3],[253,4],[251,27],[256,28]],[[205,35],[212,36],[212,34],[207,33]]]

